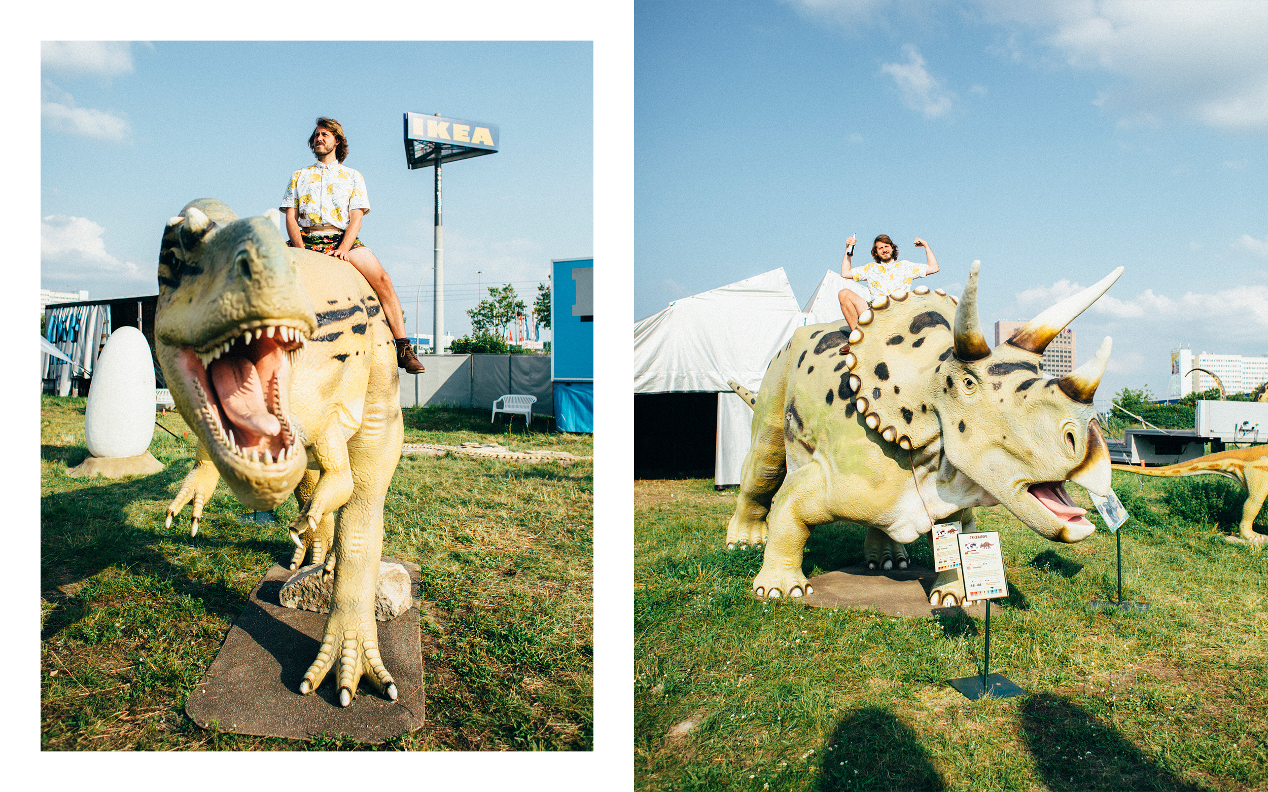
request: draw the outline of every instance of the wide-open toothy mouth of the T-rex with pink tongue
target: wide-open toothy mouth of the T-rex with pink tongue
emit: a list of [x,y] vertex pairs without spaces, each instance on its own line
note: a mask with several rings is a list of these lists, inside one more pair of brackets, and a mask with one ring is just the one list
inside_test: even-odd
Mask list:
[[203,348],[180,351],[180,371],[198,398],[198,416],[213,445],[264,465],[298,452],[283,395],[290,359],[306,342],[297,327],[252,321]]

